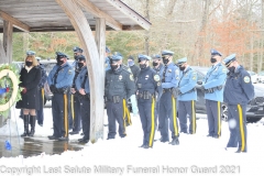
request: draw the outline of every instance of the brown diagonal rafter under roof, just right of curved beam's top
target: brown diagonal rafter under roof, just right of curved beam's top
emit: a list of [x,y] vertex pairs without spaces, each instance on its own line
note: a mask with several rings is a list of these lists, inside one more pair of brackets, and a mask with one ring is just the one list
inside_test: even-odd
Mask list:
[[95,15],[96,18],[101,18],[101,19],[106,19],[107,21],[107,25],[111,26],[112,29],[120,31],[122,30],[122,24],[117,22],[112,16],[110,16],[109,14],[102,12],[100,9],[98,9],[95,4],[92,4],[90,1],[88,0],[77,0],[77,2],[85,8],[85,10],[89,13],[91,13],[92,15]]

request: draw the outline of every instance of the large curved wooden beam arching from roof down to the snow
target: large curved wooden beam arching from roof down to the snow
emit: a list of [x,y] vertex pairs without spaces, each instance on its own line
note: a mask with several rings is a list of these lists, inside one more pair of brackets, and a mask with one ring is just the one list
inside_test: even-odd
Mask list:
[[99,61],[98,48],[89,23],[76,0],[56,0],[68,15],[79,37],[86,56],[90,84],[90,141],[95,143],[103,138],[102,119],[105,117],[103,92],[105,69]]

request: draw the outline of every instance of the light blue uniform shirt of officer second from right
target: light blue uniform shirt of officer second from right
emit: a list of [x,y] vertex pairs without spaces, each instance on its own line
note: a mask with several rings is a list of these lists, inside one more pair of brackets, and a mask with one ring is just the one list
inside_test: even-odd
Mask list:
[[[223,86],[227,78],[227,68],[221,64],[218,63],[213,65],[207,72],[207,75],[204,78],[202,85],[205,89],[215,88],[217,86]],[[215,90],[211,94],[205,94],[205,99],[213,100],[213,101],[223,101],[223,88],[221,90]]]

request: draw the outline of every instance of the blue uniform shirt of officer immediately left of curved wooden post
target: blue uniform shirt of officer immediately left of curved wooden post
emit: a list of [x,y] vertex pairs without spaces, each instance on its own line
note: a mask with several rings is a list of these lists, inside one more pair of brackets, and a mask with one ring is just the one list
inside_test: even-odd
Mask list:
[[88,70],[87,70],[87,66],[84,66],[81,69],[80,69],[80,73],[79,75],[77,76],[76,80],[75,80],[75,85],[76,85],[76,89],[79,91],[81,89],[81,85],[85,80],[85,77],[86,78],[86,81],[85,81],[85,92],[86,94],[89,94],[90,92],[90,85],[89,85],[89,77],[88,77]]

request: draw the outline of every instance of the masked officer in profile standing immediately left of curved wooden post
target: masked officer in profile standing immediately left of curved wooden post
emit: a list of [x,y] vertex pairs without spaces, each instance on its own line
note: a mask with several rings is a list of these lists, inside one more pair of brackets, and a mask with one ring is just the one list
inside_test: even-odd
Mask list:
[[80,102],[80,117],[82,122],[84,138],[79,139],[80,143],[88,143],[90,140],[90,86],[88,78],[88,69],[85,56],[78,58],[78,67],[81,68],[76,79],[76,91],[78,91]]

